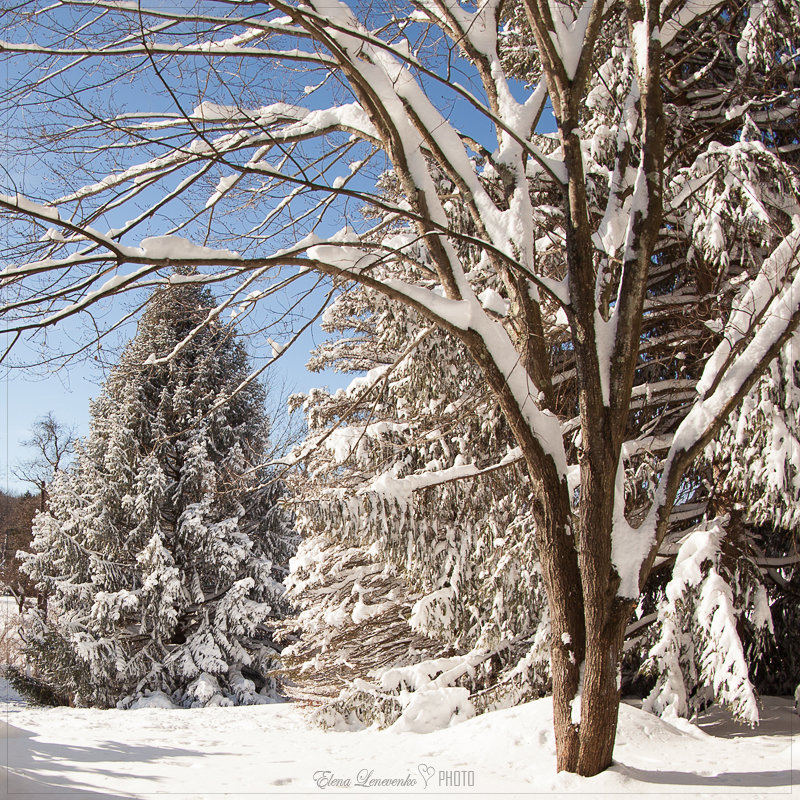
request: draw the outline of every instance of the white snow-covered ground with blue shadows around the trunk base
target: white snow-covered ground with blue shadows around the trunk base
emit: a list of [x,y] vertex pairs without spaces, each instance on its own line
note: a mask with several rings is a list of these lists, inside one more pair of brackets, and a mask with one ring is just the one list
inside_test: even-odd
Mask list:
[[[549,700],[418,734],[324,732],[291,704],[33,708],[7,686],[2,698],[7,791],[20,800],[283,792],[755,798],[790,794],[800,778],[800,744],[793,747],[791,736],[798,717],[789,698],[765,698],[755,730],[731,724],[721,712],[707,714],[700,727],[678,729],[624,705],[616,763],[591,779],[556,774]],[[0,796],[5,789],[3,778]]]

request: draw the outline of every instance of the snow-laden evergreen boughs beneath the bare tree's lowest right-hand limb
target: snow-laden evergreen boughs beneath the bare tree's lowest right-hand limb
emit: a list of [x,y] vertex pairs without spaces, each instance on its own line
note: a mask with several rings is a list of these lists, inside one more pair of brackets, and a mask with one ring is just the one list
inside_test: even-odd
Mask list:
[[645,667],[646,705],[691,714],[709,701],[758,720],[755,690],[797,683],[800,523],[800,337],[706,448],[717,516],[684,532],[657,607],[659,636]]

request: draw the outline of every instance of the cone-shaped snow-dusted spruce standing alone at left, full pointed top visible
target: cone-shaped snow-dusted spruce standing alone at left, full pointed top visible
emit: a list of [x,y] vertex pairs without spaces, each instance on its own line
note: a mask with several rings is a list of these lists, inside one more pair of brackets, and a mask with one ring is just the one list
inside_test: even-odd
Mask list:
[[213,301],[151,298],[91,409],[91,433],[50,487],[25,571],[47,596],[25,622],[40,680],[77,705],[156,691],[183,705],[272,696],[269,623],[292,538],[269,447],[264,389]]

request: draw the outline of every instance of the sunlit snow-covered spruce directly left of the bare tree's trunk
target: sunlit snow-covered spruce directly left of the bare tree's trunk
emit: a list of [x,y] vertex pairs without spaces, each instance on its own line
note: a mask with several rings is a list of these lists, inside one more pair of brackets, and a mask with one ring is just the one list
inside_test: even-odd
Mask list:
[[[549,624],[528,482],[475,367],[363,289],[342,292],[323,326],[334,335],[311,366],[362,375],[293,399],[309,426],[292,481],[305,537],[289,579],[295,691],[335,697],[326,724],[392,724],[413,709],[409,690],[458,688],[478,710],[539,696]],[[429,681],[389,686],[399,668]]]

